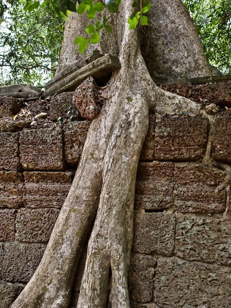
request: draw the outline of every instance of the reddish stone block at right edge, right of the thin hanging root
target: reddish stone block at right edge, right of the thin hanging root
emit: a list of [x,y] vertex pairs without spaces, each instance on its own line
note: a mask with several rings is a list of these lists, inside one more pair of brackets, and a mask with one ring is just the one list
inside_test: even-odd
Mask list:
[[218,161],[231,163],[231,113],[217,115],[213,131],[212,157]]

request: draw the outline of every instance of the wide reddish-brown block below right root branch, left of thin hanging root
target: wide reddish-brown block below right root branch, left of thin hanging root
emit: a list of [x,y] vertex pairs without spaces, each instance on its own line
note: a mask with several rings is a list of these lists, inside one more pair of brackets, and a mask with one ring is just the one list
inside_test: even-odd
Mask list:
[[206,151],[208,120],[199,116],[156,123],[155,159],[198,161]]

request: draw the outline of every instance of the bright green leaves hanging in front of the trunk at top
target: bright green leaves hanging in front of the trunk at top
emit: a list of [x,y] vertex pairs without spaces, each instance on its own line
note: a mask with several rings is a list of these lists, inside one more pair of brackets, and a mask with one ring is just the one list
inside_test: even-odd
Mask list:
[[[122,0],[105,0],[103,3],[94,2],[94,0],[78,0],[79,6],[76,7],[77,0],[44,0],[41,7],[51,6],[54,11],[62,16],[67,16],[69,11],[77,12],[78,14],[87,13],[89,20],[95,17],[96,13],[104,12],[100,15],[102,18],[95,22],[95,24],[90,24],[86,27],[87,36],[78,36],[75,38],[74,43],[79,44],[79,51],[81,53],[87,48],[88,44],[97,44],[100,41],[100,31],[105,29],[108,33],[112,32],[112,27],[109,24],[109,17],[106,17],[105,11],[110,13],[119,13],[119,5]],[[24,9],[31,12],[32,10],[38,8],[40,2],[29,0]],[[147,26],[148,20],[147,16],[144,16],[151,8],[150,0],[138,0],[134,1],[132,4],[133,12],[128,18],[129,29],[134,29],[137,26]]]

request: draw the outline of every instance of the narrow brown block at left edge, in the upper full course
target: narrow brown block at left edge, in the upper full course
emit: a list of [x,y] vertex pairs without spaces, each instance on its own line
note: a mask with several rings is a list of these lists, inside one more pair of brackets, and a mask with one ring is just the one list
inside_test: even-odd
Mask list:
[[18,134],[0,133],[0,170],[16,170],[20,168],[18,156]]

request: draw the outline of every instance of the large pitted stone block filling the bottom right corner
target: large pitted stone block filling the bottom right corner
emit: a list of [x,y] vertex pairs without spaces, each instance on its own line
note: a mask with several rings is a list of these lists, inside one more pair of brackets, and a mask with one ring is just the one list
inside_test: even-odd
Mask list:
[[160,308],[229,308],[230,290],[230,267],[158,259],[154,298]]

